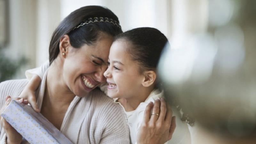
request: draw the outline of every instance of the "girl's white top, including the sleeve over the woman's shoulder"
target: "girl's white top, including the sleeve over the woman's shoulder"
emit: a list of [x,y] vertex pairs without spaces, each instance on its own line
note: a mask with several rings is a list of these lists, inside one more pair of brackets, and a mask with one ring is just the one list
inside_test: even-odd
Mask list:
[[[45,71],[49,67],[49,61],[44,62],[44,64],[39,68],[29,69],[25,72],[25,75],[28,79],[31,79],[33,74],[40,76],[42,79],[44,76]],[[101,91],[107,94],[107,85],[100,86]],[[140,124],[143,120],[144,111],[150,101],[155,102],[156,99],[160,99],[164,97],[164,92],[160,92],[158,89],[152,91],[148,98],[141,102],[138,108],[133,111],[125,112],[128,118],[128,125],[130,129],[130,138],[133,144],[136,144],[137,140],[137,133],[140,127]],[[117,99],[114,99],[114,102],[117,102]],[[121,105],[121,104],[120,104]],[[122,106],[122,105],[121,105]],[[123,107],[123,106],[122,106]],[[123,107],[124,109],[124,107]],[[181,121],[181,114],[175,108],[172,107],[172,116],[176,116],[176,129],[172,135],[172,139],[166,142],[165,144],[191,144],[191,137],[190,132],[188,130],[188,124]]]

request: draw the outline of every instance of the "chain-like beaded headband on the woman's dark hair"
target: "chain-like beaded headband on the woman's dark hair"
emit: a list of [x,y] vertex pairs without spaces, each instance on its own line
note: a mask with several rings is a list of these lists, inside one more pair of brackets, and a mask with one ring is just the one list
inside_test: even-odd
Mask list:
[[108,23],[114,24],[118,28],[121,28],[121,26],[119,25],[119,23],[116,20],[103,18],[103,17],[100,17],[100,20],[99,20],[98,17],[94,17],[94,20],[92,20],[92,18],[89,18],[88,20],[85,20],[84,22],[82,22],[80,25],[76,26],[74,29],[82,27],[83,25],[87,25],[89,23],[94,23],[94,22],[108,22]]

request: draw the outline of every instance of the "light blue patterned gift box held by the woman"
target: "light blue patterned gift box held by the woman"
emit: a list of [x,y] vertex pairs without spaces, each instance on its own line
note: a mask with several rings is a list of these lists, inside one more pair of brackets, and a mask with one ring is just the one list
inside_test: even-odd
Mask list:
[[12,100],[1,116],[31,144],[72,144],[41,113]]

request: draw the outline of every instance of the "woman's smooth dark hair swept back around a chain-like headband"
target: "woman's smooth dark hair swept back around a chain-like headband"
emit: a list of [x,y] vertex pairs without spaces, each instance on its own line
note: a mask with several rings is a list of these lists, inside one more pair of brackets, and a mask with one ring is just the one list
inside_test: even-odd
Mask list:
[[74,48],[80,48],[84,44],[93,44],[99,36],[99,32],[107,33],[110,36],[115,36],[122,33],[122,29],[108,22],[89,23],[79,28],[74,29],[83,21],[89,18],[103,17],[116,20],[119,23],[117,16],[108,8],[102,6],[84,6],[74,12],[71,12],[52,34],[52,39],[49,46],[49,61],[50,64],[58,56],[60,49],[60,38],[66,34],[69,36],[70,44]]

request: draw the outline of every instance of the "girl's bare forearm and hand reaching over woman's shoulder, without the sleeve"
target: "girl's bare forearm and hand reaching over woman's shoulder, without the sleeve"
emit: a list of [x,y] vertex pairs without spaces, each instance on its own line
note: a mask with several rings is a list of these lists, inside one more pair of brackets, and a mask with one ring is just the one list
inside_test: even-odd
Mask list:
[[20,93],[19,98],[23,98],[24,100],[28,100],[28,103],[32,106],[32,108],[36,112],[40,112],[37,104],[36,104],[36,95],[35,91],[40,85],[41,79],[39,76],[34,75],[31,80],[28,82],[26,87],[23,89],[23,91]]

